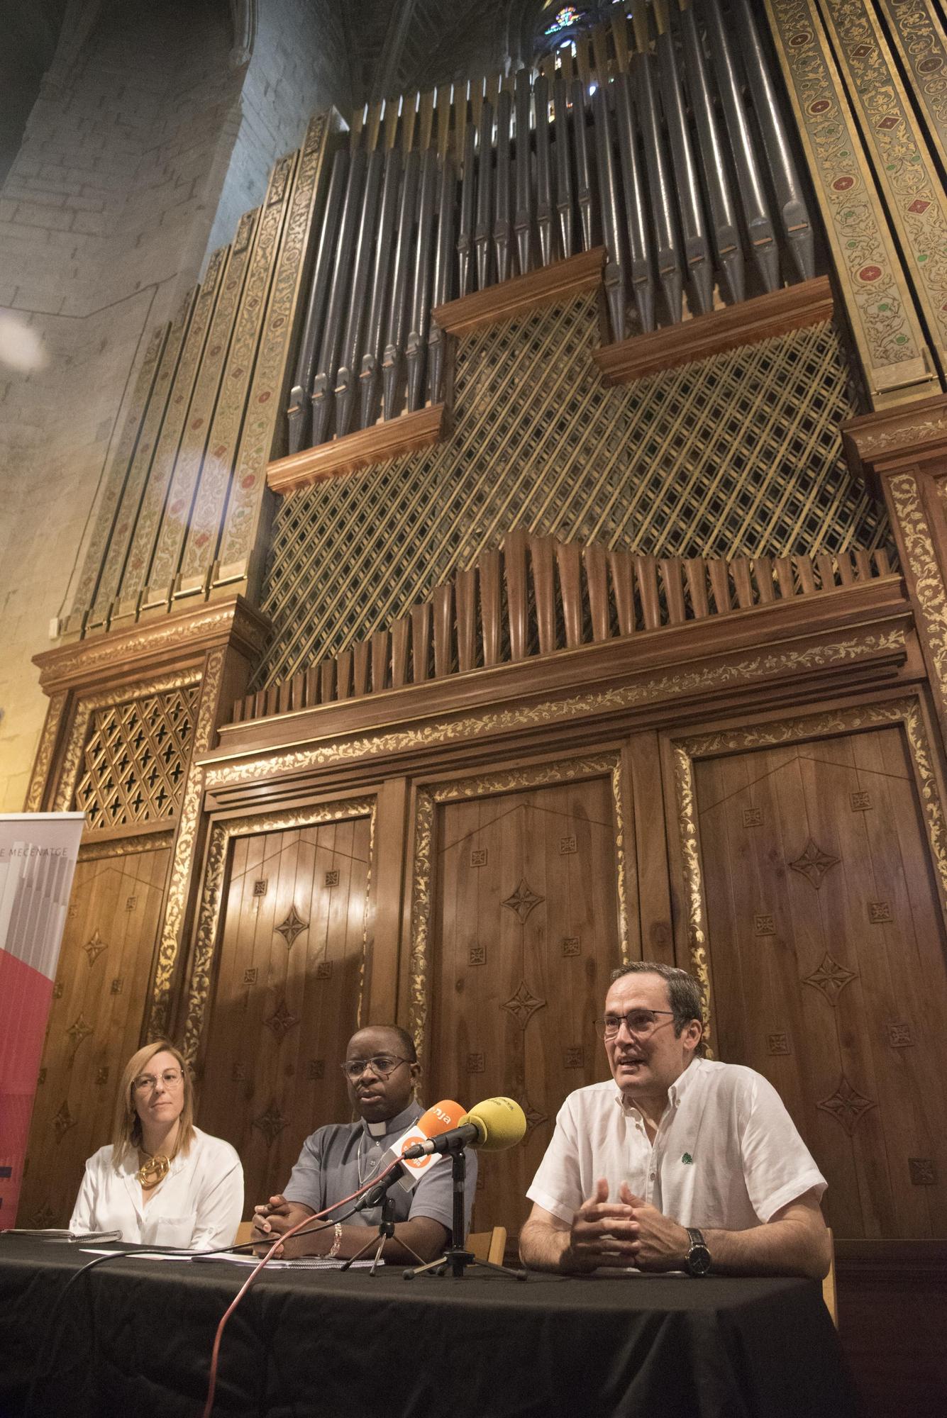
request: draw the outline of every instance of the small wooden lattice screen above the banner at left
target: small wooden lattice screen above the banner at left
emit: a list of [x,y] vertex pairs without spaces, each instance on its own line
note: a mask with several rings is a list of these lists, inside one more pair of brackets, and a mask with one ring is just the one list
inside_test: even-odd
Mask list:
[[89,828],[177,814],[198,693],[187,685],[94,710],[75,790]]

